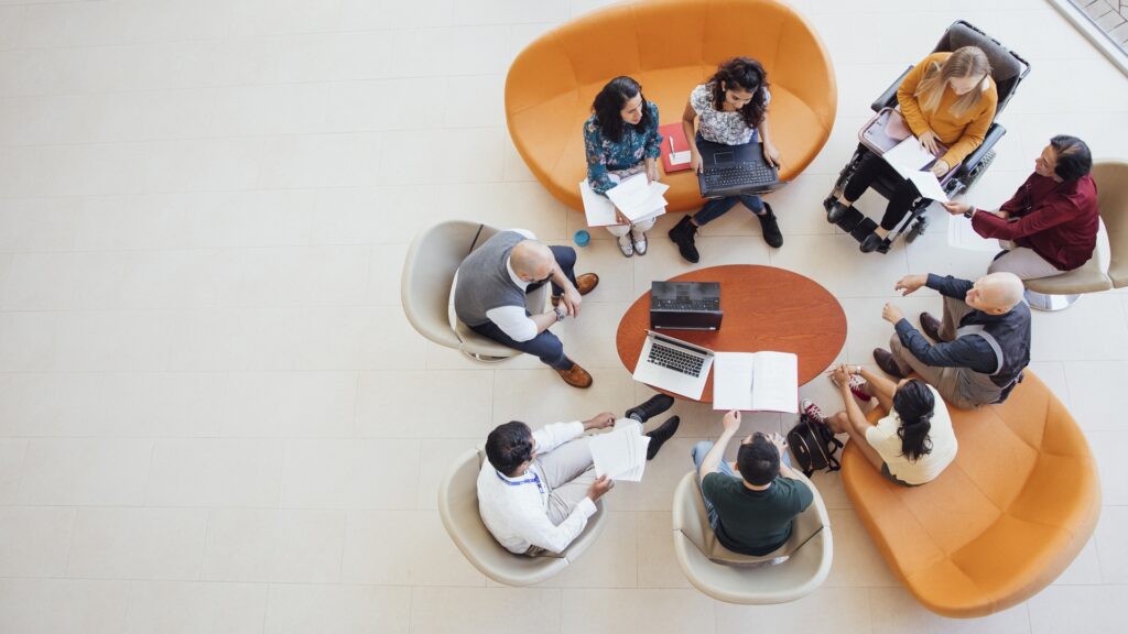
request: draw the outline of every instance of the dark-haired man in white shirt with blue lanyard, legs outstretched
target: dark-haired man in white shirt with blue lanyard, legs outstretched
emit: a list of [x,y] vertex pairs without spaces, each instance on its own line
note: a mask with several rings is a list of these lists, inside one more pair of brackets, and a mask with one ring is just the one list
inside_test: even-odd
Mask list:
[[[628,410],[625,419],[641,429],[671,405],[673,398],[660,394]],[[478,511],[502,546],[519,555],[561,553],[583,531],[596,513],[596,500],[614,486],[606,476],[596,477],[591,439],[583,434],[615,422],[615,415],[605,412],[537,431],[512,421],[490,432],[488,460],[478,473]],[[678,431],[678,422],[671,416],[646,434],[647,460]]]

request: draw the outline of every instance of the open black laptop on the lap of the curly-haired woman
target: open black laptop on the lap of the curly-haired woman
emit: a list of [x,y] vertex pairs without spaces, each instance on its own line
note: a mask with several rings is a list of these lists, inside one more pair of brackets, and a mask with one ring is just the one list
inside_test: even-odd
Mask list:
[[766,194],[782,185],[778,171],[764,160],[764,147],[757,141],[725,146],[700,139],[697,149],[702,153],[702,170],[697,174],[702,197]]

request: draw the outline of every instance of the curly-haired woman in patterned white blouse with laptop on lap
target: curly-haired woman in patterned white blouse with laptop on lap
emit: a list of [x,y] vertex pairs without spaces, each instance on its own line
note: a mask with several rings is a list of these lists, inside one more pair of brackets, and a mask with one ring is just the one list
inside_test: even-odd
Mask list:
[[[689,94],[689,103],[681,115],[681,124],[686,130],[689,143],[690,166],[700,171],[702,155],[697,150],[700,139],[725,146],[742,146],[761,141],[764,158],[768,164],[778,167],[779,151],[772,144],[768,132],[768,93],[767,73],[764,67],[750,58],[733,58],[716,69],[716,73],[705,83],[694,88]],[[694,120],[697,120],[697,134],[694,134]],[[687,215],[670,229],[670,239],[678,245],[681,257],[697,262],[699,255],[694,245],[697,228],[724,215],[735,204],[744,203],[749,211],[756,214],[764,229],[764,240],[772,247],[783,246],[783,235],[776,222],[772,206],[755,194],[725,196],[713,199],[705,203],[697,213]]]

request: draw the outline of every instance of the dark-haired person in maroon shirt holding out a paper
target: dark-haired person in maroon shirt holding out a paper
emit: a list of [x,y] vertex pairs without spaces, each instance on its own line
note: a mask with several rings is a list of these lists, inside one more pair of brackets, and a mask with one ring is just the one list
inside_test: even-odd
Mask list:
[[976,234],[998,238],[1007,249],[988,273],[1006,271],[1023,280],[1060,275],[1089,262],[1096,247],[1100,217],[1096,184],[1089,175],[1092,167],[1084,141],[1058,135],[1034,161],[1034,173],[998,211],[957,202],[944,203],[944,209],[970,218]]

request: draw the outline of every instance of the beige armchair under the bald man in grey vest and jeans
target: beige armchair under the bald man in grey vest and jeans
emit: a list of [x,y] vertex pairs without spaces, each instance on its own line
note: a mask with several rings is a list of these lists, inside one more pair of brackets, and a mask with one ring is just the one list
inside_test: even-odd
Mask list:
[[[472,331],[455,316],[451,298],[455,274],[462,259],[500,229],[479,222],[440,222],[415,237],[407,249],[399,298],[407,320],[424,337],[460,350],[478,361],[504,361],[521,354]],[[531,292],[529,312],[544,312],[549,285]]]

